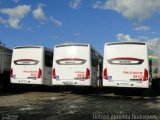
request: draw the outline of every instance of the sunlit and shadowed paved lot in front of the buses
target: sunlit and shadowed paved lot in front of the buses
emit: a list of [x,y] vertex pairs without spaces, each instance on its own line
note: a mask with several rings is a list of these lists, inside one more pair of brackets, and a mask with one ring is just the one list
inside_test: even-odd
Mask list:
[[103,91],[22,90],[0,93],[2,120],[160,120],[160,96]]

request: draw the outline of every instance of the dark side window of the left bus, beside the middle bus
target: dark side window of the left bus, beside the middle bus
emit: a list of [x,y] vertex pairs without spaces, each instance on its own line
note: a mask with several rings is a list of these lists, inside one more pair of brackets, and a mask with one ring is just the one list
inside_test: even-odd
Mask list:
[[45,52],[45,66],[52,67],[53,63],[53,53],[46,51]]

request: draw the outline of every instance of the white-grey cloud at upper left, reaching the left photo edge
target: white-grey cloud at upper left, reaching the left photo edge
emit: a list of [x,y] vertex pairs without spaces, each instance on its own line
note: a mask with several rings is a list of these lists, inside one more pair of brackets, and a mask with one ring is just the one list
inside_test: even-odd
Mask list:
[[30,12],[30,10],[31,6],[29,5],[19,5],[15,8],[0,9],[1,14],[8,15],[8,19],[0,18],[0,23],[14,29],[21,28],[20,22]]

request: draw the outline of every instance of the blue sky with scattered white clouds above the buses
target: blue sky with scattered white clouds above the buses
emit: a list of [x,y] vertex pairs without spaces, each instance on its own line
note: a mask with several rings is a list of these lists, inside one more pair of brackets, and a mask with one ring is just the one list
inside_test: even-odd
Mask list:
[[89,43],[100,53],[109,42],[160,45],[160,0],[0,0],[0,41]]

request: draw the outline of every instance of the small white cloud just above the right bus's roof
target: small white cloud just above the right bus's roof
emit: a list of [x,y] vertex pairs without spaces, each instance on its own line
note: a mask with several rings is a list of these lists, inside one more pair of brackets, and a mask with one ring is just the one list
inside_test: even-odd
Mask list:
[[139,41],[137,39],[131,38],[130,35],[125,35],[123,33],[118,33],[116,35],[116,37],[117,37],[117,40],[120,42],[137,42],[137,41]]

